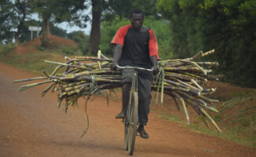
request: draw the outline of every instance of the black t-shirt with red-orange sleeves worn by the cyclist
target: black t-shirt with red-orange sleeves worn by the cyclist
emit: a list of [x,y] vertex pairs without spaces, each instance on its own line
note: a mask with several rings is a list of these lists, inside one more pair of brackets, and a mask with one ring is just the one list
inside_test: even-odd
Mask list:
[[123,46],[122,56],[118,63],[120,66],[152,68],[150,57],[158,57],[155,33],[151,28],[136,31],[131,25],[120,27],[111,43]]

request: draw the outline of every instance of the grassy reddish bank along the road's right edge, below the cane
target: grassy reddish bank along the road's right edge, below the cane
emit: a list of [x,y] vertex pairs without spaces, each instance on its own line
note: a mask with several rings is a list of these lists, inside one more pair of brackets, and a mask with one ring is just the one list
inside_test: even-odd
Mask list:
[[[256,148],[256,90],[245,93],[230,93],[232,98],[224,98],[218,105],[219,113],[209,111],[215,122],[220,126],[222,133],[215,130],[208,122],[205,126],[198,116],[187,125],[184,119],[166,112],[159,113],[160,119],[177,122],[180,126],[188,128],[196,133],[203,133],[214,137],[220,137],[226,141],[233,141],[251,148]],[[227,100],[226,100],[227,99]]]

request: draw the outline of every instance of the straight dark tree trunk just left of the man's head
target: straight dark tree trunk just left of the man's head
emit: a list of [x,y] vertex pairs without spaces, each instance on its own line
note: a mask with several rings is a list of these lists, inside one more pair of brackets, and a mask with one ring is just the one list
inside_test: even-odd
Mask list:
[[89,54],[95,55],[99,49],[101,38],[101,1],[91,0],[93,10],[92,28],[90,31]]

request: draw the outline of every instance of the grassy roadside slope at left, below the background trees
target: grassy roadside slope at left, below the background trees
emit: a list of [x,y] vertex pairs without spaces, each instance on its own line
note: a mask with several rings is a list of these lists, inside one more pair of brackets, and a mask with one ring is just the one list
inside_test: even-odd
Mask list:
[[[67,50],[71,53],[65,52],[64,49],[71,49]],[[0,61],[5,64],[10,64],[15,68],[31,71],[35,75],[43,75],[43,70],[51,73],[57,67],[57,64],[49,64],[44,60],[66,62],[67,60],[64,60],[65,56],[82,56],[82,53],[80,53],[78,50],[75,52],[76,50],[77,49],[75,49],[74,46],[63,46],[57,47],[57,49],[43,49],[32,53],[25,53],[23,55],[15,55],[13,49],[11,49],[8,53],[0,53]]]

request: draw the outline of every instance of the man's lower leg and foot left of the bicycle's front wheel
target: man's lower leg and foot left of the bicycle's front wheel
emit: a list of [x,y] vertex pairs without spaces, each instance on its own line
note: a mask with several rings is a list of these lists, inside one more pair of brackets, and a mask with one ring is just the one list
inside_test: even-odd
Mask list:
[[129,98],[130,98],[130,88],[131,88],[130,82],[123,83],[123,86],[122,86],[123,108],[118,115],[115,115],[115,119],[123,119],[126,117],[127,107],[128,107]]

